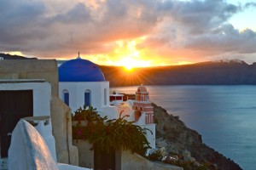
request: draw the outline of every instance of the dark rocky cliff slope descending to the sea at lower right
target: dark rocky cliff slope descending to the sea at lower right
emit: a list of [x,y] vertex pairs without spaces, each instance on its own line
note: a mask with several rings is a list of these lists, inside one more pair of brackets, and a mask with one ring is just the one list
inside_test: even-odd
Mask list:
[[186,127],[178,116],[169,115],[160,106],[153,106],[157,145],[166,147],[169,153],[182,154],[184,150],[189,150],[196,161],[215,165],[218,170],[241,169],[234,161],[203,144],[201,135]]

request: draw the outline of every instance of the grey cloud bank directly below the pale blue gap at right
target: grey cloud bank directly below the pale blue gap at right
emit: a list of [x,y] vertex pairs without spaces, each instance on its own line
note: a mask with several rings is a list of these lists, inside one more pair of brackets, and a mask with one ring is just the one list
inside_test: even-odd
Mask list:
[[185,48],[201,50],[204,54],[216,54],[233,52],[235,54],[256,53],[256,32],[251,30],[237,31],[230,24],[218,27],[218,29],[191,37],[186,42]]

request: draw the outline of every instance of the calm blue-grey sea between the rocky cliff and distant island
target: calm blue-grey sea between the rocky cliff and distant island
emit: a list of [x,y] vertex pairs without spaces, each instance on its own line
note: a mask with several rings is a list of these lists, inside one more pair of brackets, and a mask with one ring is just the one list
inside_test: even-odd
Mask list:
[[[148,86],[150,100],[201,133],[203,142],[256,169],[256,86]],[[135,94],[137,87],[111,88]]]

